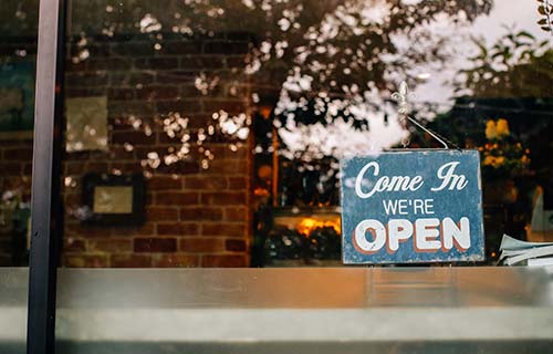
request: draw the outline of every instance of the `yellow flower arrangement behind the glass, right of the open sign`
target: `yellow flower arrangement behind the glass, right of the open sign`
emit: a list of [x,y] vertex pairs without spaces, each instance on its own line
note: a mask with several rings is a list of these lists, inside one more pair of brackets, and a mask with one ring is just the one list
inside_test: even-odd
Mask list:
[[530,149],[512,136],[504,118],[486,123],[486,143],[479,150],[482,154],[482,175],[488,178],[515,177],[530,165]]

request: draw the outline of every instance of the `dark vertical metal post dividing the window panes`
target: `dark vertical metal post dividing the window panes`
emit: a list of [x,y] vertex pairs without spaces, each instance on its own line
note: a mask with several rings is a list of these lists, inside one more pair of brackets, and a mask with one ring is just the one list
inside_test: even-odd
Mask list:
[[[31,195],[28,354],[52,354],[55,343],[56,222],[60,189],[62,0],[40,0]],[[59,219],[58,219],[59,221]]]

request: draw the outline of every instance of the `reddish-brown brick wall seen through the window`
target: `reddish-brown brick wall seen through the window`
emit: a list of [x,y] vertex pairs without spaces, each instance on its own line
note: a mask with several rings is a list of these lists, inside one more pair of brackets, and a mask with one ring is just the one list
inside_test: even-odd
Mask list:
[[[157,168],[148,154],[180,147],[163,122],[189,117],[189,134],[212,123],[212,113],[251,110],[248,77],[241,74],[251,39],[242,33],[182,39],[163,35],[75,39],[67,50],[66,97],[107,96],[108,152],[66,153],[63,263],[67,267],[246,267],[250,241],[251,143],[216,132],[190,156]],[[82,42],[81,42],[82,44]],[[156,45],[158,44],[158,45]],[[75,60],[83,51],[84,60]],[[84,56],[83,56],[84,58]],[[206,93],[197,77],[217,77]],[[137,126],[136,122],[142,122]],[[134,125],[135,124],[135,125]],[[18,144],[25,145],[20,142]],[[13,146],[28,154],[30,145]],[[10,147],[11,148],[11,147]],[[205,152],[215,156],[205,168]],[[2,157],[6,157],[6,150]],[[12,166],[14,176],[29,164]],[[13,163],[19,164],[19,162]],[[25,171],[23,171],[25,169]],[[144,173],[146,220],[140,227],[91,227],[79,219],[86,173]]]

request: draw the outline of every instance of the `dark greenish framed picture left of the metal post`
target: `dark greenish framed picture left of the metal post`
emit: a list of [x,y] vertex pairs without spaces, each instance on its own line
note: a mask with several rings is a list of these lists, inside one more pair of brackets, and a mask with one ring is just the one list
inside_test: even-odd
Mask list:
[[34,60],[0,59],[0,138],[32,138]]

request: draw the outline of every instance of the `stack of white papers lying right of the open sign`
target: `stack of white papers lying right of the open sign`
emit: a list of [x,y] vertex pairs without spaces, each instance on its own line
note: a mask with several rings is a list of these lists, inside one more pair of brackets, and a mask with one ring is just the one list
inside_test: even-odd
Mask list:
[[528,266],[553,266],[553,242],[525,242],[503,235],[500,262],[513,266],[528,261]]

